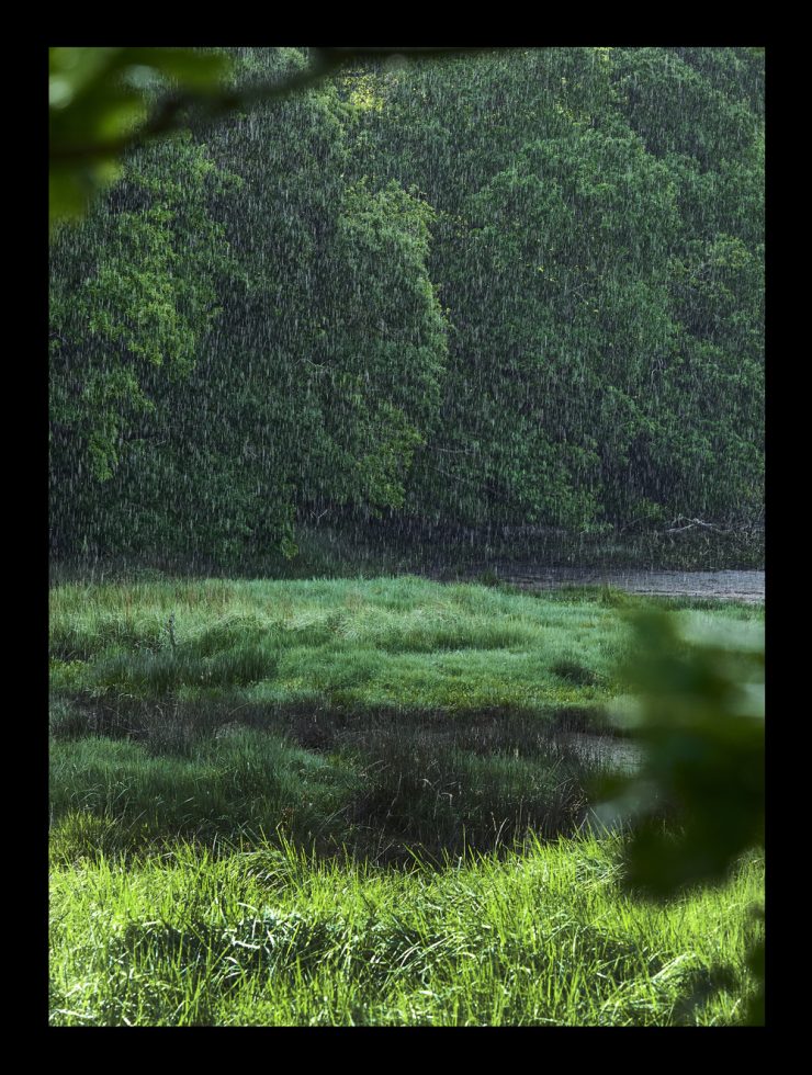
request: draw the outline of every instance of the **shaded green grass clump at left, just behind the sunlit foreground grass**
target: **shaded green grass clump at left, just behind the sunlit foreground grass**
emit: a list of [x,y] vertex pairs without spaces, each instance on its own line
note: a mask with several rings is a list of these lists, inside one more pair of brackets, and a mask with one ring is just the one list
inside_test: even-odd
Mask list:
[[[126,739],[56,742],[50,751],[53,853],[76,859],[79,819],[87,825],[88,817],[100,830],[114,826],[116,850],[179,837],[211,842],[273,834],[283,822],[303,840],[324,836],[330,828],[326,818],[346,804],[357,784],[347,766],[245,728],[158,756]],[[93,830],[79,841],[81,853],[92,855]]]

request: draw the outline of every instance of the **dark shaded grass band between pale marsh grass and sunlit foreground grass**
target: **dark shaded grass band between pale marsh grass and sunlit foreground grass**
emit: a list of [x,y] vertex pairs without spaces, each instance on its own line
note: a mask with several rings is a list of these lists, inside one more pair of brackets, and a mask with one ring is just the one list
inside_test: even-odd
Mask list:
[[[172,739],[169,740],[169,735]],[[587,816],[585,767],[541,740],[510,752],[498,737],[420,726],[349,729],[336,749],[236,724],[215,735],[145,742],[55,740],[55,862],[148,855],[178,838],[212,844],[282,834],[320,853],[409,861],[507,848],[528,833],[574,833]]]

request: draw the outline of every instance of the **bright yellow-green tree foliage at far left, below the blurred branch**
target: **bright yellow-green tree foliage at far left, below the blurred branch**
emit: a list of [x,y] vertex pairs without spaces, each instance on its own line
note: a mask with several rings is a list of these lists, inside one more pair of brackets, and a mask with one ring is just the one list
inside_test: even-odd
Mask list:
[[110,478],[137,418],[155,412],[150,367],[177,381],[194,365],[224,263],[206,206],[218,181],[189,139],[138,154],[108,202],[52,245],[54,472],[84,464]]

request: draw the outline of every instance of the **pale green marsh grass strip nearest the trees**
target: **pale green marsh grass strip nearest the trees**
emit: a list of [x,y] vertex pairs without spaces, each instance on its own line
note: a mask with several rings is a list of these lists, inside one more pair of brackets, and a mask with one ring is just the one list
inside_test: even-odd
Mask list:
[[635,602],[413,577],[65,585],[50,592],[52,690],[351,709],[596,704],[621,689],[622,611]]

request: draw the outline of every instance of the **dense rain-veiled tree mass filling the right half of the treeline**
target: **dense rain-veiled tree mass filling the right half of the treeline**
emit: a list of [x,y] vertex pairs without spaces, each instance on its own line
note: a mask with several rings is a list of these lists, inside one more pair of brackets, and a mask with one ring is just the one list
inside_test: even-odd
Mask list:
[[[379,77],[363,148],[427,191],[453,326],[413,512],[571,528],[758,512],[762,78],[746,49],[659,48]],[[702,282],[675,286],[695,259]]]

